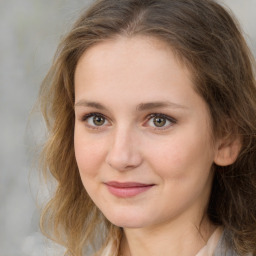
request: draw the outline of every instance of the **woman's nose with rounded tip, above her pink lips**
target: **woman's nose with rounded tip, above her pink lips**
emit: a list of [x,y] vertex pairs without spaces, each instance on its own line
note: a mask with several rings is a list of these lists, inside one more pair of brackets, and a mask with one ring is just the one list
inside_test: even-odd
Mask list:
[[136,132],[119,129],[113,133],[106,162],[118,171],[132,170],[142,163],[139,138]]

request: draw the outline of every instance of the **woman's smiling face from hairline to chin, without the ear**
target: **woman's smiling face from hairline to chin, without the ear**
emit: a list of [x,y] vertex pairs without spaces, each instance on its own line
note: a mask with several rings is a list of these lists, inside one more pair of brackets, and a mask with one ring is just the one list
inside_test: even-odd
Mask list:
[[216,154],[210,116],[164,43],[120,37],[87,50],[75,116],[81,179],[107,219],[142,228],[200,216]]

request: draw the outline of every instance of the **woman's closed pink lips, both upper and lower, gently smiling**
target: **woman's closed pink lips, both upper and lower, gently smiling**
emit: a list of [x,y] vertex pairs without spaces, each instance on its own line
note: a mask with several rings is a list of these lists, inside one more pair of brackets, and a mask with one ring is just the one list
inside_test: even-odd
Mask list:
[[107,182],[105,184],[111,194],[121,198],[136,196],[154,186],[154,184],[143,184],[137,182],[120,183],[116,181]]

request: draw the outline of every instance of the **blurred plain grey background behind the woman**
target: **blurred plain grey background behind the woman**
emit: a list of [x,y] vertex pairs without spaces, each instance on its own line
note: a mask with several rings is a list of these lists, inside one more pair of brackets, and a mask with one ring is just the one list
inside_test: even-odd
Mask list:
[[[30,113],[58,41],[89,2],[0,0],[0,256],[57,255],[38,228],[48,194],[35,167],[44,125]],[[222,2],[256,56],[256,0]]]

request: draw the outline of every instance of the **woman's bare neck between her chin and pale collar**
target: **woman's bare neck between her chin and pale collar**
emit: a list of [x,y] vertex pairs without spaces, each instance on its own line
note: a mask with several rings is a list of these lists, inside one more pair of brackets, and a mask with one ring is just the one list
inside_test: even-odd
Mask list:
[[122,256],[191,256],[206,245],[216,229],[207,218],[196,225],[178,222],[143,229],[124,229]]

